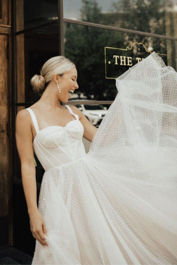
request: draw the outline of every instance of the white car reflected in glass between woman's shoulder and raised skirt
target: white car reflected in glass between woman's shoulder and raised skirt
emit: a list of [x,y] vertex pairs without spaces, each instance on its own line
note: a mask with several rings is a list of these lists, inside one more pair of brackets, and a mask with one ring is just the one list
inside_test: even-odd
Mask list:
[[82,111],[85,117],[93,124],[99,125],[103,117],[107,113],[107,108],[103,105],[76,105],[76,107]]

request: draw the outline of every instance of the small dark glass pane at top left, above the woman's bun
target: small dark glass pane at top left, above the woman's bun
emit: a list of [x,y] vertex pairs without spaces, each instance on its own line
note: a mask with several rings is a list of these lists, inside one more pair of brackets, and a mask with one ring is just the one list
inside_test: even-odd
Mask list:
[[58,18],[57,0],[16,0],[16,31]]

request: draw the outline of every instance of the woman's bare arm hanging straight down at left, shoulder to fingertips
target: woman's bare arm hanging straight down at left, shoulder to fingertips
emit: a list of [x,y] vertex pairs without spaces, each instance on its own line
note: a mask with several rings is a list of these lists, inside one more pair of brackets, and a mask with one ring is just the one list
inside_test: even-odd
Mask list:
[[16,144],[21,161],[22,184],[27,204],[27,210],[30,216],[31,231],[33,236],[42,245],[47,245],[47,242],[45,240],[47,230],[37,206],[33,134],[30,114],[27,110],[21,110],[16,117]]

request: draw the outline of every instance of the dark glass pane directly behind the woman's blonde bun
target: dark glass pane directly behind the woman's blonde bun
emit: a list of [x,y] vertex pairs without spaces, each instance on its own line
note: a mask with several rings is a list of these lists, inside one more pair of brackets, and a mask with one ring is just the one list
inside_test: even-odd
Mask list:
[[17,103],[36,102],[40,96],[33,92],[30,80],[46,60],[58,55],[58,23],[26,32],[16,37]]

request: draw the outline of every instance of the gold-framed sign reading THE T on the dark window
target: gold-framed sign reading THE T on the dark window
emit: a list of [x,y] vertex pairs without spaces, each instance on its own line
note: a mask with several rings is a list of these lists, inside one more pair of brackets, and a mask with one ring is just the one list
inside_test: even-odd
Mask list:
[[[105,78],[115,79],[126,72],[134,64],[152,53],[144,44],[134,42],[126,49],[105,47]],[[167,54],[157,53],[167,63]]]

